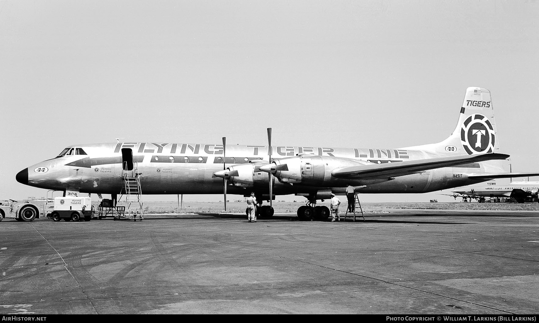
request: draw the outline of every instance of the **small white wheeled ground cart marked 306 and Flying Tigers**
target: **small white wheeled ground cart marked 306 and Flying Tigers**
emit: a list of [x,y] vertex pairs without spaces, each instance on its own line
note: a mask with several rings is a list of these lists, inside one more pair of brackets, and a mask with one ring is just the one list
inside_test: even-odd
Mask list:
[[90,197],[55,197],[54,210],[52,211],[53,221],[90,221],[94,215],[92,199]]

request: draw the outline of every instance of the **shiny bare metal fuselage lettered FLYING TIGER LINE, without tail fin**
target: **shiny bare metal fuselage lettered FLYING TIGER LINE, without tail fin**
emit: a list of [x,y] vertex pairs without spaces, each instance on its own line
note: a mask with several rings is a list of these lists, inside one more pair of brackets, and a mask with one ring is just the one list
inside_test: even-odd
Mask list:
[[[27,183],[34,187],[75,190],[81,193],[119,194],[123,177],[138,173],[143,194],[220,194],[223,180],[212,176],[222,170],[223,146],[212,144],[118,142],[74,145],[84,155],[63,155],[34,164],[27,169]],[[70,148],[68,147],[68,148]],[[347,184],[367,185],[362,193],[426,193],[478,183],[467,178],[469,173],[483,171],[483,163],[461,167],[426,170],[418,174],[387,180],[340,180],[331,178],[327,157],[344,157],[370,163],[403,162],[429,159],[436,154],[410,149],[335,148],[306,146],[272,146],[272,160],[286,159],[296,154],[312,161],[319,184],[281,183],[274,181],[274,194],[295,194]],[[326,157],[322,160],[319,156]],[[225,166],[268,161],[264,145],[227,145]],[[331,159],[329,159],[331,160]],[[19,175],[18,175],[19,176]],[[254,172],[267,183],[268,175]],[[19,178],[18,178],[19,180]],[[230,194],[248,194],[245,187],[229,185]]]

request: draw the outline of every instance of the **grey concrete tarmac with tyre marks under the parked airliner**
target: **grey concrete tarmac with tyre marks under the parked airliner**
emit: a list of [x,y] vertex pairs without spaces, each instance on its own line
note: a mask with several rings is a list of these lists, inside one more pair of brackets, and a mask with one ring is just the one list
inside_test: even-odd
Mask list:
[[537,314],[539,214],[0,222],[0,314]]

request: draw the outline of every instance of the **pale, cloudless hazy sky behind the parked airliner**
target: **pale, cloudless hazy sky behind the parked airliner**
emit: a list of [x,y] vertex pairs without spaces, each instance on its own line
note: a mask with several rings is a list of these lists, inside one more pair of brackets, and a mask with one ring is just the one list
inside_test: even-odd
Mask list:
[[[535,0],[0,1],[0,198],[44,196],[17,172],[119,137],[438,142],[468,86],[492,92],[513,171],[537,171],[538,57]],[[429,198],[453,200],[363,196]]]

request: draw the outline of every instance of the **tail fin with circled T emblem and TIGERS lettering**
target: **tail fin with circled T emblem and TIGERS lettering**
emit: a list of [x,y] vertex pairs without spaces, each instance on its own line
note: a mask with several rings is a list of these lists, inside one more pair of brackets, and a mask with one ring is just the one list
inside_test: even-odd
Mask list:
[[453,133],[438,143],[407,148],[455,155],[500,153],[496,134],[490,91],[481,87],[468,87]]

